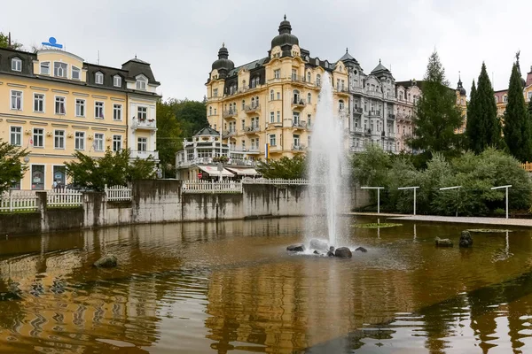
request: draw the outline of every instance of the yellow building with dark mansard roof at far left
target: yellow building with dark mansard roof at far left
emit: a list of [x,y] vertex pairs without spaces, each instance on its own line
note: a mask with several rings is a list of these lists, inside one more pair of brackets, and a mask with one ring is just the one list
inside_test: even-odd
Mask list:
[[119,69],[64,50],[0,49],[0,140],[29,150],[27,173],[14,188],[65,185],[75,150],[98,158],[129,148],[132,158],[158,159],[159,86],[137,58]]

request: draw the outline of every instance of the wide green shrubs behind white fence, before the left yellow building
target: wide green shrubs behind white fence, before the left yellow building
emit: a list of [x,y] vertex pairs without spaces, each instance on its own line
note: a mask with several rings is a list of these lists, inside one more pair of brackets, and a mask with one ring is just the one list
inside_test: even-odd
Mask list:
[[113,153],[107,149],[103,158],[91,158],[81,151],[74,152],[76,160],[65,162],[66,173],[74,186],[103,191],[105,186],[123,186],[129,181],[153,178],[155,162],[152,158],[129,159],[129,150]]

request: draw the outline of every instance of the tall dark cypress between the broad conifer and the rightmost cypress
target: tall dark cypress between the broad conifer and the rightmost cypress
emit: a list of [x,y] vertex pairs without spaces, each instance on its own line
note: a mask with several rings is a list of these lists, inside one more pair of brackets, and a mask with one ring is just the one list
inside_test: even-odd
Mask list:
[[497,119],[497,103],[491,81],[489,81],[486,65],[482,63],[481,74],[479,75],[476,92],[476,113],[478,125],[480,127],[480,148],[475,150],[481,153],[489,147],[499,147],[501,142],[501,125]]

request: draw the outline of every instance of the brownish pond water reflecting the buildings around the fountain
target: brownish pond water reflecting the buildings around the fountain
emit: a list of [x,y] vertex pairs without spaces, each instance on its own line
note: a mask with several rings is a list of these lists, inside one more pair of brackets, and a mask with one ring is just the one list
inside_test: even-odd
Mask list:
[[351,259],[287,254],[299,218],[2,237],[0,352],[532,352],[530,230],[376,221]]

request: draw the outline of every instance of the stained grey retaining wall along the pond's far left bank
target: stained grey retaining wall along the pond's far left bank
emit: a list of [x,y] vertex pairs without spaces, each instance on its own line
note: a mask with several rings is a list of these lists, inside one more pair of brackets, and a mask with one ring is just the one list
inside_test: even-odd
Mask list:
[[[344,210],[368,204],[367,191],[346,190]],[[313,200],[308,186],[245,184],[236,194],[183,194],[181,181],[136,181],[130,202],[107,202],[104,193],[83,194],[82,206],[51,209],[46,192],[37,193],[39,212],[0,214],[0,234],[34,234],[75,228],[160,222],[257,219],[325,212],[323,197]],[[309,209],[309,205],[317,208]]]

